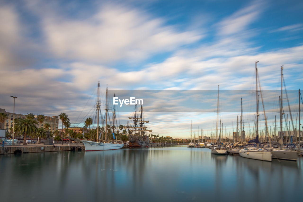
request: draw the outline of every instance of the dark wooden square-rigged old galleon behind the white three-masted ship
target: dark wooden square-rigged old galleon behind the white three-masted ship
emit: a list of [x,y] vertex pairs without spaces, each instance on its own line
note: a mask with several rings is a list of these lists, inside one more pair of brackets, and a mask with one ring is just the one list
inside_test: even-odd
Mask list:
[[151,133],[152,130],[147,129],[146,123],[149,121],[144,118],[143,105],[141,105],[140,111],[138,111],[138,107],[135,105],[134,113],[128,118],[131,119],[133,123],[131,126],[127,121],[127,126],[124,126],[127,130],[126,135],[128,135],[126,145],[130,148],[149,147],[149,136],[147,132]]

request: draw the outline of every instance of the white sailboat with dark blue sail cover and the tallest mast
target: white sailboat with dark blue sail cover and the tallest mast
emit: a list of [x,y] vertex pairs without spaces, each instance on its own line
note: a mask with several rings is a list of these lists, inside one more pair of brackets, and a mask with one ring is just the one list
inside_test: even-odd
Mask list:
[[[241,149],[239,151],[239,154],[241,157],[249,158],[249,159],[256,159],[256,160],[265,160],[265,161],[271,161],[271,151],[267,151],[261,148],[258,148],[259,144],[259,134],[258,134],[258,123],[259,123],[259,101],[258,101],[258,82],[257,82],[257,76],[258,76],[258,69],[257,69],[257,62],[255,62],[256,67],[256,99],[257,99],[257,125],[256,125],[256,139],[255,143],[257,144],[257,147],[246,147],[244,149]],[[261,89],[260,89],[261,92]],[[266,123],[267,124],[267,123]]]

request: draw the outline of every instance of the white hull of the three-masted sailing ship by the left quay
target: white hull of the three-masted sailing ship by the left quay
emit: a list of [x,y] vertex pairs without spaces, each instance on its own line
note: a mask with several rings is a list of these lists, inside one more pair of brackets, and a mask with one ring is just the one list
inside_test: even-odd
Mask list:
[[124,146],[124,143],[112,144],[112,143],[94,142],[89,140],[82,140],[82,143],[84,144],[85,151],[118,150]]

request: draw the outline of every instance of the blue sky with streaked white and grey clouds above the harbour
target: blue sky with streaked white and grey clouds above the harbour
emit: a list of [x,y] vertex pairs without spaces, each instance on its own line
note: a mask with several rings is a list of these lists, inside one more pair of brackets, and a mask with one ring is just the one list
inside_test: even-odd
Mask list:
[[[295,0],[2,0],[0,108],[12,112],[9,96],[18,96],[16,113],[64,112],[73,126],[82,126],[94,116],[100,82],[103,104],[106,87],[111,97],[141,92],[152,134],[188,138],[191,120],[195,132],[216,127],[219,85],[226,133],[241,111],[241,97],[245,129],[251,130],[247,120],[254,119],[256,98],[249,92],[258,60],[261,88],[269,92],[264,101],[271,103],[265,104],[268,120],[279,115],[283,65],[295,121],[303,84],[302,9]],[[197,99],[207,90],[207,101]],[[125,125],[132,110],[121,109],[118,124]]]

